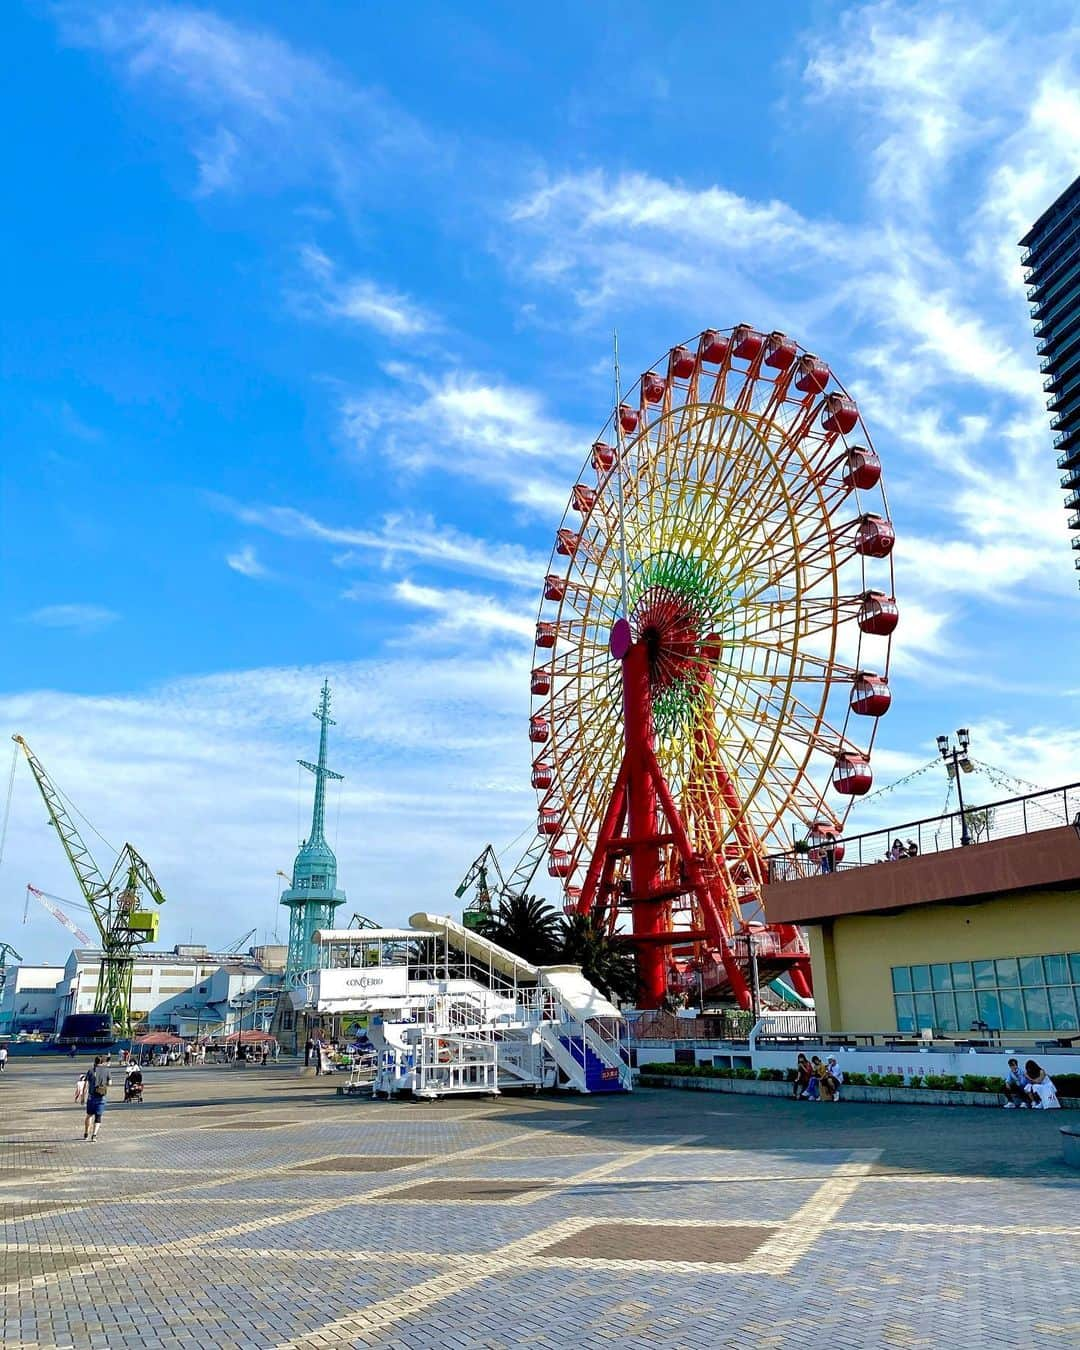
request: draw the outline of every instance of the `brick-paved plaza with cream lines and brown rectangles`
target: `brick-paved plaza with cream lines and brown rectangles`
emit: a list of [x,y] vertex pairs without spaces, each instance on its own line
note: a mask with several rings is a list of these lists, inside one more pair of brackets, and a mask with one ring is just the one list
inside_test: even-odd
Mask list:
[[89,1145],[76,1068],[0,1080],[7,1350],[1080,1345],[1064,1112],[385,1104],[282,1064],[151,1069]]

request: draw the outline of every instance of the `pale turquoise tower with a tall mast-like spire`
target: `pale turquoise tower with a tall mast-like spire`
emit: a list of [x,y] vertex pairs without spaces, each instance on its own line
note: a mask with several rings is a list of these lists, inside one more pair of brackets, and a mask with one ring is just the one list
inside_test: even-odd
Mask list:
[[333,927],[333,914],[344,905],[346,892],[338,890],[338,859],[327,844],[327,780],[342,779],[344,775],[327,768],[327,729],[333,726],[329,716],[329,682],[323,682],[315,717],[319,718],[319,763],[308,760],[297,763],[315,774],[315,805],[312,807],[312,828],[293,863],[293,882],[282,891],[281,903],[289,910],[289,956],[285,965],[285,983],[296,986],[305,971],[319,964],[313,934],[320,929]]

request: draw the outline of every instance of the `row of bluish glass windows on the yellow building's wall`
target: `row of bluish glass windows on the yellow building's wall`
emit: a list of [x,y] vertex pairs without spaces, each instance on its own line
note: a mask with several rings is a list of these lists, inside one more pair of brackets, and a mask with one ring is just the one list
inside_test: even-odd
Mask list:
[[992,961],[894,965],[898,1031],[1073,1031],[1080,1027],[1080,952]]

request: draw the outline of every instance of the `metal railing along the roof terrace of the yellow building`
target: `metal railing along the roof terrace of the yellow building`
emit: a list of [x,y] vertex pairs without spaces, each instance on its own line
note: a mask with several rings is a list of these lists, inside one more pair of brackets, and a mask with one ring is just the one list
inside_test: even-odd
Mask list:
[[[972,844],[987,844],[991,840],[1075,825],[1080,819],[1080,783],[1031,792],[1027,796],[1010,796],[986,806],[968,806],[963,815],[967,818]],[[844,857],[833,867],[828,867],[828,872],[846,872],[871,863],[903,863],[915,855],[946,853],[961,848],[963,837],[964,819],[960,811],[907,821],[903,825],[888,825],[880,830],[845,837]],[[905,850],[900,857],[892,857],[896,842]],[[911,844],[915,845],[915,855],[910,852]],[[828,859],[819,852],[779,853],[767,861],[770,882],[799,882],[821,876],[828,864]]]

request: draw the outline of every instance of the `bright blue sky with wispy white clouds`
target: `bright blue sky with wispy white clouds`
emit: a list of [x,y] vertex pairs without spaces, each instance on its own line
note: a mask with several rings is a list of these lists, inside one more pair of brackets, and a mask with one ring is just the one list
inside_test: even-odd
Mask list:
[[[324,675],[356,909],[443,909],[528,829],[614,324],[634,373],[782,328],[857,397],[905,613],[879,783],[961,722],[1080,778],[1015,247],[1080,171],[1071,7],[749,8],[8,7],[0,725],[147,855],[167,941],[273,923]],[[28,880],[72,894],[20,768],[0,937],[59,957]]]

